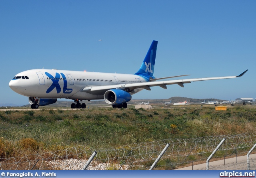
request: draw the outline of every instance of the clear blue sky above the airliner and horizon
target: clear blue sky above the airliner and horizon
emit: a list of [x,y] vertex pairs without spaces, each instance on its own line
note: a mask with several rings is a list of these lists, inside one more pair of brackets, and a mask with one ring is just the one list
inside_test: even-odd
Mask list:
[[[152,87],[133,99],[255,98],[256,1],[0,1],[0,103],[28,104],[8,83],[29,69],[138,71],[158,41],[154,76],[240,78]],[[103,41],[98,41],[102,39]]]

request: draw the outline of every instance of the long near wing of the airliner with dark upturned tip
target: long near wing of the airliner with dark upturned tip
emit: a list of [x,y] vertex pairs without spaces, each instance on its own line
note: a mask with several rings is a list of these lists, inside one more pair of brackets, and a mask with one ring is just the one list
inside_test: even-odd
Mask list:
[[236,77],[242,77],[244,73],[246,73],[248,70],[244,71],[240,75],[236,76],[227,76],[227,77],[207,77],[207,78],[198,78],[198,79],[179,79],[179,80],[166,80],[166,81],[150,81],[150,82],[142,82],[142,83],[128,83],[128,84],[118,84],[118,85],[105,85],[105,86],[89,86],[84,87],[82,89],[82,92],[88,92],[88,93],[98,93],[98,94],[104,94],[109,89],[128,89],[129,92],[132,93],[134,89],[143,88],[146,90],[151,90],[150,87],[159,86],[164,89],[167,89],[166,85],[173,85],[177,84],[181,87],[184,87],[184,83],[191,83],[192,81],[204,81],[204,80],[217,80],[217,79],[232,79]]

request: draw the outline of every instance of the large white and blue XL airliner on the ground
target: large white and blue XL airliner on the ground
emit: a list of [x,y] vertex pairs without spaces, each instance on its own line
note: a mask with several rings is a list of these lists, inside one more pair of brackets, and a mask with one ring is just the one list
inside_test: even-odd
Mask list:
[[173,84],[184,87],[184,83],[191,83],[192,81],[242,77],[248,71],[228,77],[159,81],[187,75],[154,77],[157,44],[158,41],[152,42],[142,65],[135,74],[32,69],[15,75],[9,83],[9,87],[16,93],[27,96],[32,109],[56,103],[58,98],[74,100],[75,103],[71,105],[72,109],[86,108],[86,104],[81,104],[80,101],[96,99],[104,99],[113,108],[120,109],[127,108],[127,102],[132,99],[132,95],[142,89],[151,90],[150,87],[154,86],[167,89],[166,85]]

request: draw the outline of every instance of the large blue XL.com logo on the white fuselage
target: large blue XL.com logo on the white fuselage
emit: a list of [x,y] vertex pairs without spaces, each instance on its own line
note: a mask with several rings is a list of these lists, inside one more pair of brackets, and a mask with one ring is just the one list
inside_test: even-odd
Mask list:
[[67,88],[67,79],[66,76],[63,73],[57,73],[55,74],[55,77],[53,77],[50,73],[45,72],[45,75],[47,75],[51,80],[52,80],[52,85],[46,90],[46,93],[50,93],[54,88],[56,88],[57,93],[61,92],[59,80],[60,80],[60,75],[63,78],[63,93],[71,93],[73,89],[68,89]]

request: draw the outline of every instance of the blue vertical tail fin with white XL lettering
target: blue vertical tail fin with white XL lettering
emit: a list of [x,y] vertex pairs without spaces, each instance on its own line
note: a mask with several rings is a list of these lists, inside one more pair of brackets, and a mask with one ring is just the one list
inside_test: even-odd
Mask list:
[[156,60],[156,48],[157,41],[153,41],[148,49],[148,53],[146,54],[144,61],[142,62],[142,65],[140,66],[140,69],[135,73],[135,75],[141,75],[147,79],[154,78],[153,74]]

